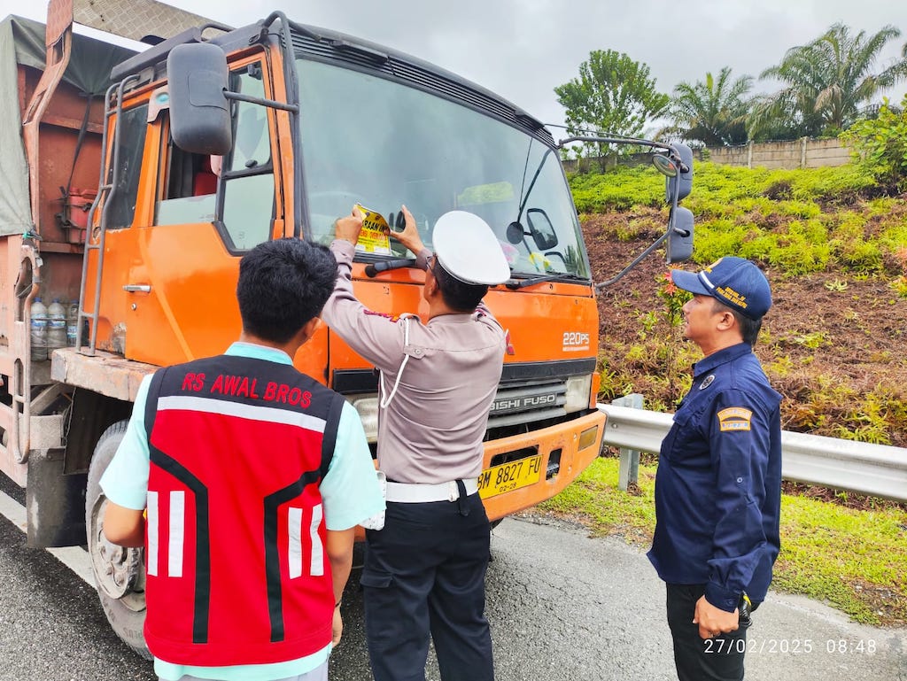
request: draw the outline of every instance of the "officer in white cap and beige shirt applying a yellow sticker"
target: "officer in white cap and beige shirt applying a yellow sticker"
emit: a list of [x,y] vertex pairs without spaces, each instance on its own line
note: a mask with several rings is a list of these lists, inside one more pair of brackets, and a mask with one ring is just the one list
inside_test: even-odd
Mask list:
[[387,477],[383,530],[366,530],[362,586],[376,681],[424,679],[429,635],[444,681],[491,681],[484,616],[489,525],[477,493],[504,331],[482,298],[510,277],[492,229],[454,210],[434,225],[434,254],[405,207],[397,238],[425,270],[428,321],[375,314],[350,268],[362,216],[336,221],[334,295],[322,318],[380,372],[378,451]]

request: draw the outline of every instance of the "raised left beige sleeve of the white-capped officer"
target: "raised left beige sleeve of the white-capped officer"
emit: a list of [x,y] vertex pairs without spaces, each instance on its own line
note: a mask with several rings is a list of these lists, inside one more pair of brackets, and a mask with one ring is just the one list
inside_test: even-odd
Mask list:
[[352,264],[356,248],[343,239],[331,244],[337,261],[334,293],[321,318],[346,344],[383,371],[395,371],[403,355],[403,331],[397,318],[373,312],[353,293]]

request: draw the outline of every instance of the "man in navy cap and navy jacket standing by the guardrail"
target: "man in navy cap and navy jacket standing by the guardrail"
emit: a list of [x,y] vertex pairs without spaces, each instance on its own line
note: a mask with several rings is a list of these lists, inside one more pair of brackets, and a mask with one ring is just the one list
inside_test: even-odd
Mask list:
[[771,291],[743,258],[672,278],[693,294],[684,335],[705,358],[661,443],[649,560],[667,583],[678,678],[742,679],[748,611],[780,550],[781,395],[753,354]]

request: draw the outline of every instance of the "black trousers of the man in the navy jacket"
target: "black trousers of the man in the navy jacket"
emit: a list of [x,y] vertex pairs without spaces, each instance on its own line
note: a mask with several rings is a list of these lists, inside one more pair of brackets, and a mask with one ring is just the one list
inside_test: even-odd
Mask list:
[[746,627],[720,637],[699,637],[693,624],[705,584],[668,584],[668,627],[674,638],[674,663],[680,681],[740,681],[746,653]]

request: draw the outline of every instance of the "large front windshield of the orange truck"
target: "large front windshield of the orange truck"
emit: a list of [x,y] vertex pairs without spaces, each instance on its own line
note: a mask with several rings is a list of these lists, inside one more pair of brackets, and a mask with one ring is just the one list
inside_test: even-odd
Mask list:
[[[334,220],[355,203],[392,223],[405,204],[431,248],[435,220],[469,210],[491,225],[514,274],[589,278],[556,151],[385,78],[305,59],[297,59],[297,73],[307,236],[329,243]],[[393,239],[391,249],[409,255]]]

